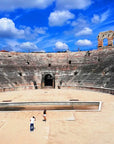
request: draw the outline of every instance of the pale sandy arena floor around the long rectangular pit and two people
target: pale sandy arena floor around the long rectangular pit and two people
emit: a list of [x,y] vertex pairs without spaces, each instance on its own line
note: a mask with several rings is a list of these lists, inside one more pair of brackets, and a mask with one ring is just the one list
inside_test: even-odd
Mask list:
[[[102,101],[100,112],[1,111],[0,144],[114,144],[114,96],[105,93],[44,89],[0,93],[0,102],[11,101]],[[30,132],[30,118],[36,117]]]

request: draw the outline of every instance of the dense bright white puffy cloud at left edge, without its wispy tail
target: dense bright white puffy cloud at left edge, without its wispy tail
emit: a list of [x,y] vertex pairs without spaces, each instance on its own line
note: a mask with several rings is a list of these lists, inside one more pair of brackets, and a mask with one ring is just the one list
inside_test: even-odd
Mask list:
[[24,37],[24,30],[19,30],[15,27],[14,22],[11,19],[0,19],[0,37],[5,38],[20,38]]

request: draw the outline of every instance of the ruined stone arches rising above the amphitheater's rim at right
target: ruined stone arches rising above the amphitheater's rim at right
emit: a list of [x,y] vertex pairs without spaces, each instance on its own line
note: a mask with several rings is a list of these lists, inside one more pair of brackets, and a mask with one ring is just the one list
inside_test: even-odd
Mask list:
[[108,39],[108,47],[112,47],[114,39],[114,31],[100,32],[98,35],[98,48],[103,48],[103,40]]

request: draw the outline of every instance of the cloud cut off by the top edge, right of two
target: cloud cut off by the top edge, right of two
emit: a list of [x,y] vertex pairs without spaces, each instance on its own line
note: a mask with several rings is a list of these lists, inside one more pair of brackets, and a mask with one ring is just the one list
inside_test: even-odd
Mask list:
[[92,4],[92,0],[56,0],[57,9],[85,9]]

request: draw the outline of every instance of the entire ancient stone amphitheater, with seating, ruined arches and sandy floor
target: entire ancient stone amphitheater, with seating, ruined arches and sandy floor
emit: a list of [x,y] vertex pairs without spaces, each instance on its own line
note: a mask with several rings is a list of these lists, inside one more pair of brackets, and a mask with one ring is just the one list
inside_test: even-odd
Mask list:
[[113,39],[114,31],[99,33],[92,51],[1,51],[0,143],[113,144]]

